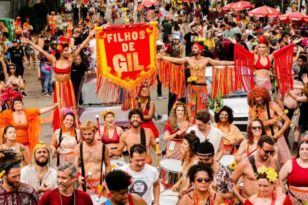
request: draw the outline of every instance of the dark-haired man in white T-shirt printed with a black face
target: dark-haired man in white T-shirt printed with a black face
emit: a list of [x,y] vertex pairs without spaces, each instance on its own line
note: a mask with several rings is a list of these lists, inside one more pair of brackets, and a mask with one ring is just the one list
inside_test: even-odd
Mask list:
[[119,169],[126,171],[133,177],[134,182],[129,187],[129,193],[140,195],[147,204],[152,204],[152,190],[154,195],[153,205],[159,205],[160,183],[159,174],[155,167],[146,164],[146,148],[142,144],[134,144],[130,149],[130,160]]

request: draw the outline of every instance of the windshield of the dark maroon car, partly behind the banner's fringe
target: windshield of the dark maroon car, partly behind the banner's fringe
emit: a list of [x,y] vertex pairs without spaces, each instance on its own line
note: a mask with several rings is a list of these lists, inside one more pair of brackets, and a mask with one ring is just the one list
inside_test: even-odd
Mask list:
[[[122,104],[122,96],[123,96],[123,89],[121,89],[119,104]],[[101,99],[96,97],[94,82],[83,84],[81,88],[78,104],[79,105],[105,105],[107,106],[107,103],[102,102]]]

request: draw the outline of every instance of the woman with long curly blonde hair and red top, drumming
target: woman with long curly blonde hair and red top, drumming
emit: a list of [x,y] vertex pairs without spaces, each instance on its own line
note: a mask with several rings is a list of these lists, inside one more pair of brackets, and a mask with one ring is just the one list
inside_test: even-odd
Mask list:
[[164,141],[168,141],[164,158],[182,159],[184,154],[181,149],[182,136],[185,134],[184,130],[191,125],[187,105],[183,102],[175,102],[164,128]]

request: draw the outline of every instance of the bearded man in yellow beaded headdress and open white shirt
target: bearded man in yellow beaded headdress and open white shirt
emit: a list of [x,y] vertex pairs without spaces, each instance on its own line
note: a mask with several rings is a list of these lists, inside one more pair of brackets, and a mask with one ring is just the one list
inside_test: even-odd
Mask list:
[[33,187],[39,198],[58,187],[57,171],[49,166],[49,149],[43,141],[33,148],[32,164],[21,169],[20,182]]

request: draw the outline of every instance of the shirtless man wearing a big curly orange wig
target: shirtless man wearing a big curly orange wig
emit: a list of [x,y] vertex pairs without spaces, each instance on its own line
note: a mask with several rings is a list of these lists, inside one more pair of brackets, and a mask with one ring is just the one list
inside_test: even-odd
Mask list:
[[[264,124],[266,135],[271,136],[274,140],[277,140],[275,145],[279,149],[278,159],[281,164],[286,163],[291,159],[291,153],[286,143],[284,137],[282,137],[283,132],[286,131],[291,122],[286,115],[282,115],[281,119],[284,121],[282,127],[278,127],[276,123],[279,123],[279,120],[276,120],[278,115],[283,113],[281,107],[275,103],[271,102],[270,92],[268,89],[263,87],[253,88],[247,95],[247,102],[249,107],[253,108],[256,106],[260,107],[263,112],[258,117]],[[254,115],[257,110],[250,113]]]

